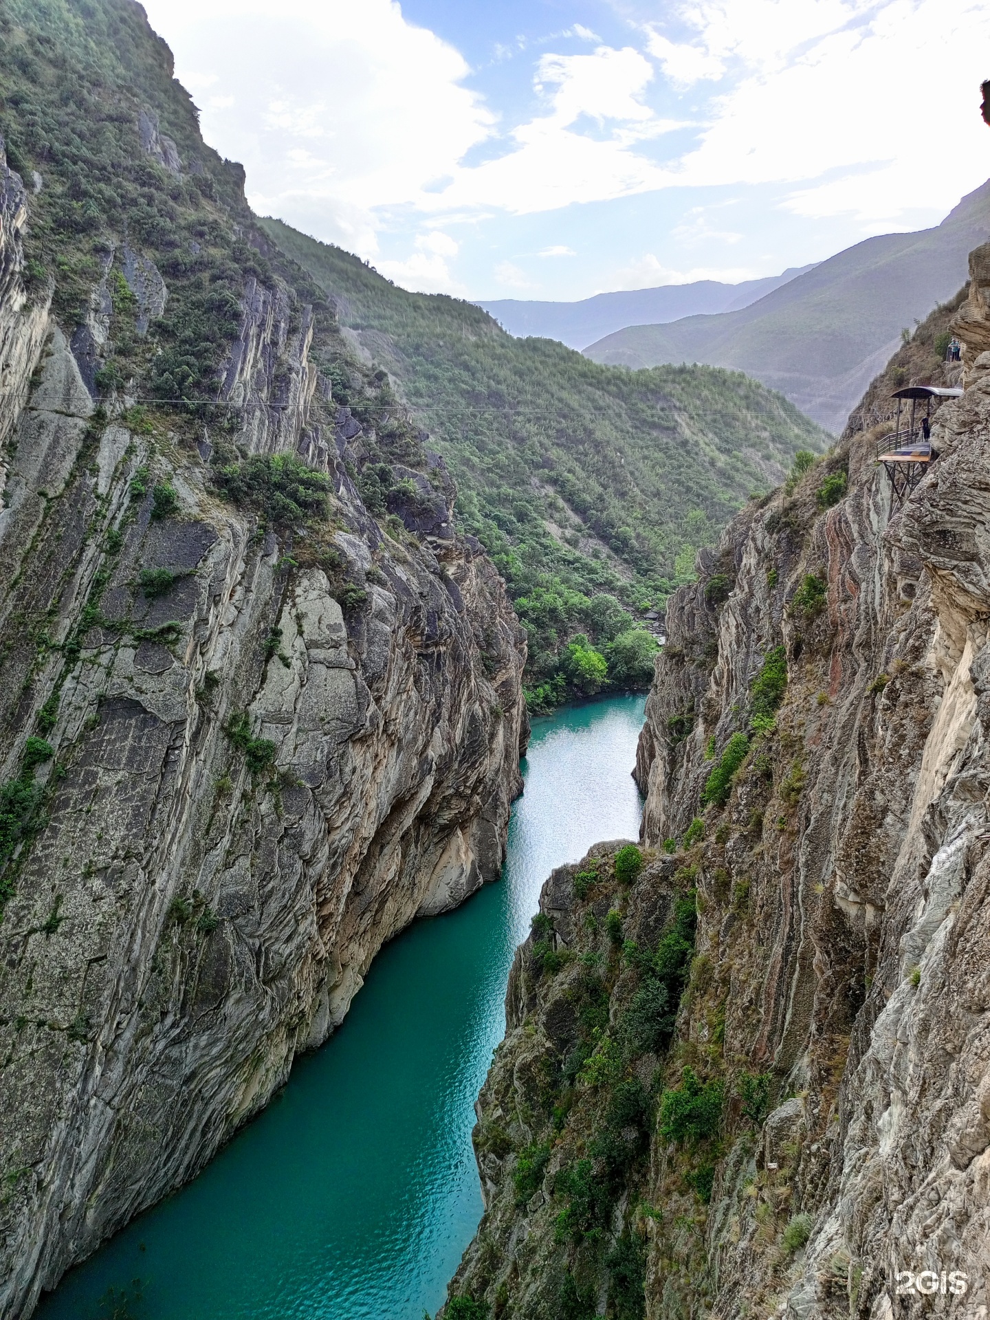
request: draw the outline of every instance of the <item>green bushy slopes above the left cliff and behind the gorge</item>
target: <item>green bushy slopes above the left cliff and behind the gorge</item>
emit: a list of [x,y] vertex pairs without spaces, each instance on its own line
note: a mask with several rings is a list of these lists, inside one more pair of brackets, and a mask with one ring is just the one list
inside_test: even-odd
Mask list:
[[[0,133],[30,190],[29,292],[75,326],[100,407],[133,421],[137,408],[149,432],[189,445],[206,428],[213,463],[239,462],[240,434],[276,433],[298,409],[292,341],[312,325],[333,387],[314,422],[347,407],[374,429],[352,478],[376,516],[409,496],[396,465],[422,469],[428,438],[446,457],[459,525],[494,556],[527,626],[532,705],[647,682],[655,644],[634,623],[824,433],[738,372],[628,372],[516,341],[471,304],[405,293],[257,222],[243,169],[203,145],[172,70],[131,0],[0,3]],[[273,273],[289,338],[282,401],[261,405],[226,381]]]

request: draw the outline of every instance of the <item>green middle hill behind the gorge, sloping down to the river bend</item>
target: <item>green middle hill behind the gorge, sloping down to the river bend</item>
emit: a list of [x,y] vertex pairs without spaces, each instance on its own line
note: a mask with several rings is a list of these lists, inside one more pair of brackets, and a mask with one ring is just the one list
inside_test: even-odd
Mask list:
[[536,676],[550,672],[556,643],[527,610],[535,591],[610,591],[645,606],[690,573],[694,548],[779,479],[797,449],[825,440],[739,374],[601,367],[554,341],[513,339],[473,304],[407,293],[281,222],[261,223],[430,430],[458,479],[465,527],[536,624]]

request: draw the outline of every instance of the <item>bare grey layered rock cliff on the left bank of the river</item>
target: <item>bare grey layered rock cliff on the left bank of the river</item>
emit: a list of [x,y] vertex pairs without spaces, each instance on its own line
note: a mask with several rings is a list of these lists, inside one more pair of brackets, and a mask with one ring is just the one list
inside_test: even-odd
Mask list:
[[[112,335],[28,294],[24,189],[0,186],[0,1315],[21,1317],[267,1104],[388,939],[498,876],[525,644],[444,465],[387,381],[342,359],[335,397],[284,276],[244,281],[215,407],[143,407],[87,380]],[[106,293],[116,334],[128,269],[139,319],[157,269],[115,277],[103,251],[86,315]],[[360,474],[396,454],[375,519]]]

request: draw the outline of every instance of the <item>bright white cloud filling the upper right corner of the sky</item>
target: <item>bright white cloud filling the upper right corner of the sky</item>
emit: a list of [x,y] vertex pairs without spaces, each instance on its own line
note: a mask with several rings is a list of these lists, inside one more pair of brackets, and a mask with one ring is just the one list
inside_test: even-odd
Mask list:
[[867,226],[946,209],[974,186],[972,161],[986,154],[973,112],[990,42],[983,0],[719,0],[694,18],[704,49],[738,58],[743,75],[667,182],[810,183],[843,172],[789,206]]

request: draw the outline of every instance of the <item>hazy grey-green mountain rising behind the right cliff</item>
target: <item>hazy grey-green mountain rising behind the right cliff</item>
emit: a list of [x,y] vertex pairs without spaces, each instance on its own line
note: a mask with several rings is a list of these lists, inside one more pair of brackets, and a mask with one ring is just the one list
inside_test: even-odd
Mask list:
[[627,367],[735,367],[838,434],[900,343],[902,329],[913,327],[960,289],[968,253],[987,238],[990,181],[935,228],[866,239],[750,306],[628,326],[593,343],[585,355]]

